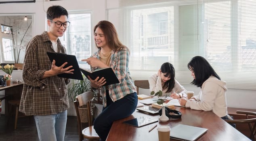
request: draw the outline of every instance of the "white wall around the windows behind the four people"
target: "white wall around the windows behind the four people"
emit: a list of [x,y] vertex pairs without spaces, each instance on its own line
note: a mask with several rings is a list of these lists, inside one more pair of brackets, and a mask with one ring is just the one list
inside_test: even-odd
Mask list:
[[[90,10],[92,13],[92,31],[94,25],[101,20],[106,20],[107,15],[117,15],[118,0],[57,0],[45,2],[36,0],[36,3],[10,3],[0,4],[0,13],[34,13],[33,35],[41,34],[46,29],[46,10],[51,5],[61,5],[68,11]],[[109,19],[113,24],[118,24],[116,19]],[[118,30],[118,29],[117,29]],[[93,40],[92,40],[93,43]],[[96,51],[92,44],[92,52]],[[132,75],[132,74],[131,74]],[[235,79],[235,78],[234,78]],[[187,90],[199,92],[199,88],[193,85],[183,85]],[[148,93],[148,90],[141,90]],[[256,90],[229,89],[227,91],[227,103],[229,107],[256,109]]]

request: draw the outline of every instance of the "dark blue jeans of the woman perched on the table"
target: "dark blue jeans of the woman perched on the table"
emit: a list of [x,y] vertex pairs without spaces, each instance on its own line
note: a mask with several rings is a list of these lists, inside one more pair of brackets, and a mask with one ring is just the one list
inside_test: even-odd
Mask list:
[[138,103],[137,93],[130,93],[120,100],[112,102],[107,91],[107,106],[94,120],[94,129],[101,138],[107,139],[110,128],[115,120],[120,120],[130,116],[136,109]]

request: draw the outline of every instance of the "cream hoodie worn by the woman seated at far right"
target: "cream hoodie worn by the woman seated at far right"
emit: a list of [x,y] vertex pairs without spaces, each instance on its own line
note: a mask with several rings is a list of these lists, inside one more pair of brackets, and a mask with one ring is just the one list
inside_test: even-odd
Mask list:
[[217,116],[227,116],[226,82],[216,77],[209,77],[202,85],[201,91],[195,98],[196,101],[188,100],[186,107],[195,110],[212,110]]

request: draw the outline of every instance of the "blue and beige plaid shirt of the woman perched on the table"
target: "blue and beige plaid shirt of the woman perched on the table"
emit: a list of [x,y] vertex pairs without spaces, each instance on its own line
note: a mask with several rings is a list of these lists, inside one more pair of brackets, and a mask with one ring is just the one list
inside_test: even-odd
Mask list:
[[[100,60],[99,56],[100,49],[95,52],[92,57],[98,58]],[[130,71],[129,71],[129,56],[130,53],[128,51],[128,48],[122,48],[118,51],[111,52],[111,58],[110,58],[110,67],[113,68],[115,75],[118,77],[118,80],[120,83],[118,84],[112,84],[108,85],[109,89],[109,97],[113,102],[122,99],[124,96],[136,92],[136,88],[134,86],[134,82],[132,81],[132,78],[130,77]],[[96,69],[96,68],[93,68]],[[103,95],[103,106],[107,106],[107,100],[106,100],[106,91],[105,86],[100,88],[100,93]]]

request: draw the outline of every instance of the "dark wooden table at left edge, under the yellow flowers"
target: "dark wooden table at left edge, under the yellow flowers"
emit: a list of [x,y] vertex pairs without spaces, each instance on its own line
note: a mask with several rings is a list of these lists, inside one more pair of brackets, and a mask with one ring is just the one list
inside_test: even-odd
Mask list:
[[21,93],[23,90],[23,83],[13,83],[10,86],[0,87],[0,91],[4,92],[5,114],[8,115],[8,100],[18,100],[21,98]]

